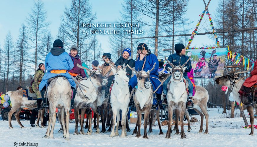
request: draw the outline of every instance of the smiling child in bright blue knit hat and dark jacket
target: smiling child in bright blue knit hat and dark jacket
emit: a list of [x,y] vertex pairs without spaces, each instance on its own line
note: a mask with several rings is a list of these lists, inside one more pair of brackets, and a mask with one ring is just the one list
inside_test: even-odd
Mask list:
[[[130,67],[135,67],[135,60],[130,58],[131,56],[131,50],[129,48],[126,48],[122,51],[122,56],[115,62],[114,65],[117,66],[117,68],[123,68],[123,64],[125,63],[125,66],[128,64]],[[126,67],[127,77],[131,79],[132,70],[128,67]]]

